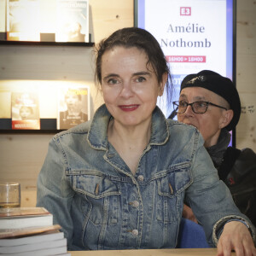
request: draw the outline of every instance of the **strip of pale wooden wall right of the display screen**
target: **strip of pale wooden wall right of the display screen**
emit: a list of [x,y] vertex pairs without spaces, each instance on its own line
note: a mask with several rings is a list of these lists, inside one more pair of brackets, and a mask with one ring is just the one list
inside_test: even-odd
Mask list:
[[241,97],[241,119],[236,147],[256,152],[256,1],[237,0],[236,86]]

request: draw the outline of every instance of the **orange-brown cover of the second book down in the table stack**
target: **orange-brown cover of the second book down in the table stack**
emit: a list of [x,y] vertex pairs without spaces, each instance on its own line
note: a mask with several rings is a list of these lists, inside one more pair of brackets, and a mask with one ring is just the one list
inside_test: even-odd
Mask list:
[[61,226],[59,224],[49,225],[46,227],[30,227],[23,229],[0,229],[0,239],[3,238],[18,238],[24,236],[34,236],[38,234],[51,234],[55,233],[57,230],[60,230]]

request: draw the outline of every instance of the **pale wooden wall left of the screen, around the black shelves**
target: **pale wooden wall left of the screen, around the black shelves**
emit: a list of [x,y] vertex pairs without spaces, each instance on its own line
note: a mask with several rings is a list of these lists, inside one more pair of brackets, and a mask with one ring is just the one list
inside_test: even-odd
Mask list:
[[[133,0],[90,0],[92,41],[133,26]],[[0,46],[0,79],[78,80],[90,84],[91,113],[102,104],[94,87],[91,48]],[[53,134],[0,134],[0,181],[21,183],[21,206],[35,206],[38,172]]]

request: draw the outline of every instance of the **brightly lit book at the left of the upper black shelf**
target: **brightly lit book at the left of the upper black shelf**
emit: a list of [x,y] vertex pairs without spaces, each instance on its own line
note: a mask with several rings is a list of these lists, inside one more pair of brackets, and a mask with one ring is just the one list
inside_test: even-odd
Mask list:
[[40,40],[39,0],[7,0],[7,40]]

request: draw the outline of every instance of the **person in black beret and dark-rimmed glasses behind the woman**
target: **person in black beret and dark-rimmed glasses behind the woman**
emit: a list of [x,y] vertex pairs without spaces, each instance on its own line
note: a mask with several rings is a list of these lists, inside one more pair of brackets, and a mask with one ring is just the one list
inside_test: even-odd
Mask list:
[[[183,79],[179,101],[173,104],[177,120],[201,132],[218,176],[229,187],[236,206],[256,225],[256,154],[250,148],[229,147],[229,131],[241,113],[236,86],[218,73],[203,70]],[[183,217],[195,221],[186,206]]]

